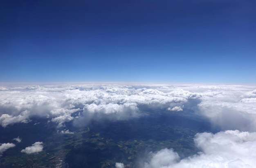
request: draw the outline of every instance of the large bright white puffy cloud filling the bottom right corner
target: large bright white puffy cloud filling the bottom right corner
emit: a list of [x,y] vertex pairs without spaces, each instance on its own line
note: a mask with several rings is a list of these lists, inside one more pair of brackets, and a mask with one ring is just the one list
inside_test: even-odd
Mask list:
[[180,159],[173,149],[150,153],[144,168],[253,168],[256,165],[256,133],[227,130],[198,133],[195,145],[198,155]]

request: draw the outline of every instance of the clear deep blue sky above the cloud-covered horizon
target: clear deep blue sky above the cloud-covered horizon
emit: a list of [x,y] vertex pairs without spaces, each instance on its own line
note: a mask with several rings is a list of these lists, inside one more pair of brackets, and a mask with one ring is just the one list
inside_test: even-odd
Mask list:
[[2,0],[0,82],[256,83],[255,0]]

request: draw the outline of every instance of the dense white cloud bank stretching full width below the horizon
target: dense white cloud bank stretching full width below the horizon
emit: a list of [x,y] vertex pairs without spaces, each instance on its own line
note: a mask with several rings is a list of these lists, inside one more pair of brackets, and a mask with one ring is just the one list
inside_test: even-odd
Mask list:
[[[0,86],[0,124],[89,123],[92,119],[140,117],[141,106],[169,111],[193,110],[223,130],[256,129],[256,86],[242,85],[31,85]],[[74,115],[76,114],[76,115]]]

